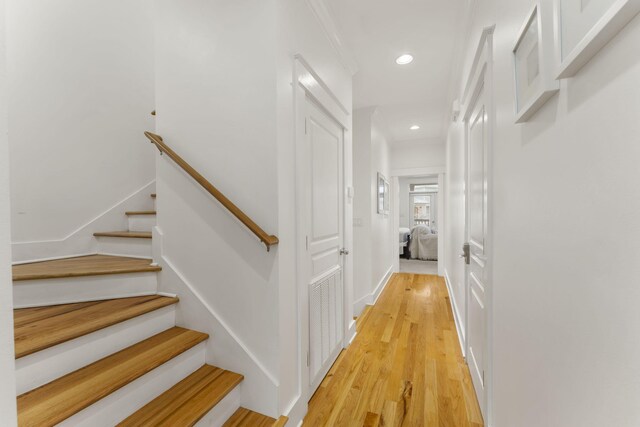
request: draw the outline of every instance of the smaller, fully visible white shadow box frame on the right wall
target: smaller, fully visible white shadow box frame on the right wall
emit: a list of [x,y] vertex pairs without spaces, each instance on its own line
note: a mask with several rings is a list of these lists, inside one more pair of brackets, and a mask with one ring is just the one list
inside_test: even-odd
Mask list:
[[516,123],[528,121],[560,90],[560,83],[553,74],[552,23],[553,8],[548,1],[539,1],[518,33],[512,51]]

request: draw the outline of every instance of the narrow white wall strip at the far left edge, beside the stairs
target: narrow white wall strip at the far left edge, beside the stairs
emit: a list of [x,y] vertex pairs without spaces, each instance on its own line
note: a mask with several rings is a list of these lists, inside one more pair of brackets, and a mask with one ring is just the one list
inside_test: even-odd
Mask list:
[[5,0],[0,0],[0,419],[17,425],[9,211]]

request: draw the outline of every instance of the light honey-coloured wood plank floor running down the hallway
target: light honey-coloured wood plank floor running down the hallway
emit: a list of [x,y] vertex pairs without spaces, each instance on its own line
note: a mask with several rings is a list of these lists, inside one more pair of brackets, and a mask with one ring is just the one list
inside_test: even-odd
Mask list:
[[442,278],[396,274],[358,320],[305,426],[483,426]]

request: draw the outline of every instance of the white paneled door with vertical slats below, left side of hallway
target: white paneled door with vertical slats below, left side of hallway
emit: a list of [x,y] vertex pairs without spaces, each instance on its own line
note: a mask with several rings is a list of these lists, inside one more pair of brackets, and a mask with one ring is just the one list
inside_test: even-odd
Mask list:
[[308,153],[307,271],[309,272],[309,386],[320,385],[342,349],[344,129],[306,100]]

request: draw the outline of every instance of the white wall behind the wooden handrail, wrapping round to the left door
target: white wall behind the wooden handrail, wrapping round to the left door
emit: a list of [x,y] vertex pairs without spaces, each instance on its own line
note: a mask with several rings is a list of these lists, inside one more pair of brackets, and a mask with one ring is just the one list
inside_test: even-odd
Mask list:
[[[156,10],[158,133],[280,239],[267,252],[212,197],[159,158],[163,257],[275,378],[271,388],[259,389],[261,384],[245,377],[243,404],[260,403],[251,409],[270,416],[288,413],[299,402],[303,369],[293,57],[302,54],[349,108],[351,76],[306,2],[162,0]],[[349,183],[350,176],[346,179]],[[216,354],[210,362],[231,366],[234,361],[225,357]],[[305,399],[301,404],[300,411],[306,410]]]

